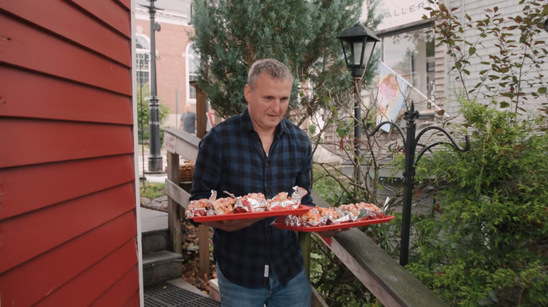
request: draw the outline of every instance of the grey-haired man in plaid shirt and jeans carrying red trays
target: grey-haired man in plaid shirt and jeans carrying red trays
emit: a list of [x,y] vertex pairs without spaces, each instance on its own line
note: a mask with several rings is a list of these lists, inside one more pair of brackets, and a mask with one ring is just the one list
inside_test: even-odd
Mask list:
[[[255,62],[244,97],[247,109],[216,125],[200,142],[190,200],[263,193],[272,198],[293,186],[310,196],[312,150],[305,132],[284,118],[293,76],[277,60]],[[214,228],[214,261],[223,306],[311,306],[311,286],[292,231],[275,217],[204,223]],[[337,233],[337,232],[335,232]],[[334,233],[322,233],[330,236]]]

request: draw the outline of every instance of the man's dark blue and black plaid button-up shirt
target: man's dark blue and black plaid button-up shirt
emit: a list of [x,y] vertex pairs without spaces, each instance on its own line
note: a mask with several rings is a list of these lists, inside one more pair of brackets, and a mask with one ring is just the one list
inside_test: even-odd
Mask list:
[[[284,118],[267,157],[246,109],[216,125],[200,141],[190,200],[209,198],[211,190],[217,191],[217,197],[226,197],[223,191],[228,191],[272,198],[282,191],[291,195],[293,186],[301,186],[308,191],[301,203],[313,205],[311,167],[311,143],[305,132]],[[242,287],[265,287],[268,265],[286,285],[301,271],[301,247],[294,232],[270,225],[274,220],[266,218],[233,232],[214,228],[214,260],[228,280]]]

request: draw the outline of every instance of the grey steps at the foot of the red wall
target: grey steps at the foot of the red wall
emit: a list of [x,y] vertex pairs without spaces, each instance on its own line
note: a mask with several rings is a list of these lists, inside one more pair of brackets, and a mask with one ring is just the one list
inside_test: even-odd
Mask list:
[[180,278],[183,257],[168,250],[167,212],[141,207],[143,284]]

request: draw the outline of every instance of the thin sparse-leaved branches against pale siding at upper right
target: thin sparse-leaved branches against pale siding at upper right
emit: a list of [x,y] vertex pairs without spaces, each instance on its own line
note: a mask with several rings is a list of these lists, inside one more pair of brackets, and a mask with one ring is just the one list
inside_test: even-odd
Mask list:
[[[485,9],[483,18],[478,20],[465,14],[464,22],[453,13],[458,7],[448,8],[435,0],[429,2],[434,8],[426,8],[430,13],[423,18],[432,20],[438,46],[448,46],[447,54],[454,63],[450,71],[457,72],[455,79],[462,83],[467,100],[487,97],[497,100],[500,107],[512,104],[515,112],[525,112],[528,99],[548,99],[546,71],[543,71],[548,50],[546,41],[541,39],[542,23],[548,15],[545,1],[520,0],[521,14],[507,18],[495,6]],[[462,37],[467,29],[476,29],[474,40]],[[489,46],[495,49],[487,58],[478,55],[478,50]],[[476,83],[467,83],[467,79],[474,80],[469,70],[473,65],[481,67],[480,77]],[[541,111],[548,115],[547,102],[543,105]]]

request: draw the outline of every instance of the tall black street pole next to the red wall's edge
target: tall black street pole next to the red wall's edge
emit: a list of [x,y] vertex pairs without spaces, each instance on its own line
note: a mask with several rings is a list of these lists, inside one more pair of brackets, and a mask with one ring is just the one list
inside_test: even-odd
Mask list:
[[150,153],[148,156],[148,172],[162,172],[162,155],[160,154],[159,138],[159,103],[156,95],[156,8],[154,1],[149,0],[148,13],[150,13]]

